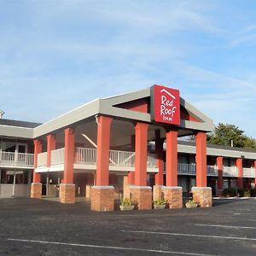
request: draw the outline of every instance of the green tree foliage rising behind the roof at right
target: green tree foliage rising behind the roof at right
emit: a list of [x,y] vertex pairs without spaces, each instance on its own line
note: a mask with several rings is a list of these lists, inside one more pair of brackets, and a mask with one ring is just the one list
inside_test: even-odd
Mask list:
[[256,148],[256,140],[247,137],[244,131],[241,131],[236,125],[228,125],[218,123],[214,125],[214,131],[207,135],[207,142],[223,146],[231,146],[238,148]]

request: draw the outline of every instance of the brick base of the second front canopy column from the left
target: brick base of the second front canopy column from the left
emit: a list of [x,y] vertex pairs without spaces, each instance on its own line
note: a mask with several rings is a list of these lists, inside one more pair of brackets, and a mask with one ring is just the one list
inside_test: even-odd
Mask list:
[[130,186],[131,199],[138,210],[152,209],[152,189],[148,186]]

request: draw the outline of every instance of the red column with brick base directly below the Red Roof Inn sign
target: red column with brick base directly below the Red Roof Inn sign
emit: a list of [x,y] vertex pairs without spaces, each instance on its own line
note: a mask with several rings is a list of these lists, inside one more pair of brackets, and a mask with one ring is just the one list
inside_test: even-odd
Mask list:
[[166,187],[163,188],[169,208],[183,207],[183,189],[177,186],[177,131],[166,131]]

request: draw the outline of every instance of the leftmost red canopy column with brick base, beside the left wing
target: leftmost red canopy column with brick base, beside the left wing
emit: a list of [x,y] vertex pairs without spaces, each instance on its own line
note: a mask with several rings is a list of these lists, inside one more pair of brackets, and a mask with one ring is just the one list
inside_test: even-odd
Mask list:
[[36,172],[36,169],[38,168],[38,154],[40,153],[42,153],[42,142],[36,139],[34,140],[34,171],[33,181],[31,184],[31,198],[42,197],[41,174]]

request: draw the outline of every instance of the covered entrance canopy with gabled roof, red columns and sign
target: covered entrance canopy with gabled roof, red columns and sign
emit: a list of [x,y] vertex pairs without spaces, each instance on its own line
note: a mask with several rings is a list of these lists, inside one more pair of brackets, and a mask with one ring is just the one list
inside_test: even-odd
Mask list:
[[[159,99],[155,88],[160,90]],[[165,116],[164,120],[161,115]],[[40,172],[63,171],[62,183],[70,184],[74,172],[87,169],[96,170],[96,189],[109,186],[109,171],[133,172],[134,185],[142,187],[146,185],[147,171],[162,176],[160,151],[166,140],[166,184],[177,186],[177,137],[195,134],[196,183],[204,187],[207,131],[212,131],[212,119],[174,92],[172,95],[168,87],[154,85],[145,90],[97,99],[33,130],[35,157],[38,158],[34,183],[40,181]],[[147,152],[151,141],[156,143],[153,160]],[[161,183],[162,177],[158,180]]]

